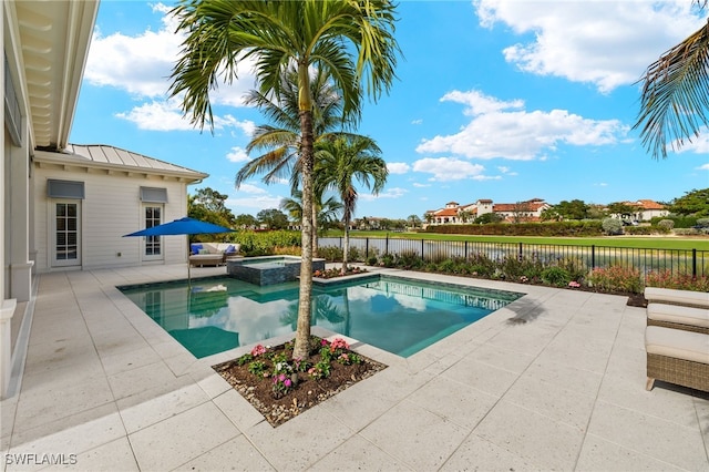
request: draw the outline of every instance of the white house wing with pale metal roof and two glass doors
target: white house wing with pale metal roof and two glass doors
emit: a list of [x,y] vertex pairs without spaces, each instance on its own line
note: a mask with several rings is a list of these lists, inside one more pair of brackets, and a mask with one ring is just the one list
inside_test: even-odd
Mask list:
[[187,185],[207,174],[105,145],[33,162],[38,273],[186,261],[186,238],[122,236],[185,216]]

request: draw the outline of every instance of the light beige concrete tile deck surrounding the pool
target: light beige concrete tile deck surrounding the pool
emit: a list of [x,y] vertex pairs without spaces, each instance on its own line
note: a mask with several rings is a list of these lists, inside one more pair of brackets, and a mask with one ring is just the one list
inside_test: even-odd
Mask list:
[[709,394],[645,390],[626,297],[405,273],[527,295],[408,359],[358,347],[389,368],[274,429],[209,367],[237,352],[196,360],[115,288],[185,273],[38,277],[3,470],[709,470]]

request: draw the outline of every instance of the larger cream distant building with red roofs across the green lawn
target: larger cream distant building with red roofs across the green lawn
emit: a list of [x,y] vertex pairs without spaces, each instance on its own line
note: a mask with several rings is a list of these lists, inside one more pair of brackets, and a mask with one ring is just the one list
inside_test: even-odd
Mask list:
[[460,225],[472,223],[475,218],[487,213],[494,213],[506,223],[540,222],[542,212],[552,206],[542,198],[532,198],[517,203],[493,203],[487,198],[481,198],[475,203],[459,205],[458,202],[449,202],[443,208],[430,209],[425,213],[425,223],[429,225]]

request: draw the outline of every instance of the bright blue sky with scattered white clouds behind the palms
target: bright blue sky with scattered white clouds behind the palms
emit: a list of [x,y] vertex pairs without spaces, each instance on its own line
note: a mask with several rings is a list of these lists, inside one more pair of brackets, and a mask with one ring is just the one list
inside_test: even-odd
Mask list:
[[[656,161],[631,130],[638,79],[706,21],[689,0],[402,1],[403,57],[389,95],[366,104],[359,133],[389,167],[356,216],[422,217],[454,201],[667,202],[709,187],[709,132]],[[234,186],[257,110],[249,64],[213,96],[214,134],[167,100],[181,38],[172,3],[101,2],[70,141],[107,144],[209,174],[235,215],[277,208],[287,183]],[[251,156],[255,157],[255,156]]]

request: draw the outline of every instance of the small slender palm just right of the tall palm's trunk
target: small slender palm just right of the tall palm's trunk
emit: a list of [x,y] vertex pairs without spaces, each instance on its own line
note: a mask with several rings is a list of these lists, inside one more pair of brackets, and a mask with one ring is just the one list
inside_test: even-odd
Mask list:
[[[342,270],[347,271],[350,222],[357,205],[357,188],[353,179],[378,194],[387,183],[387,163],[380,157],[381,150],[369,137],[358,136],[351,140],[338,137],[320,143],[316,157],[316,182],[325,188],[331,188],[342,201]],[[371,182],[370,182],[371,181]],[[318,185],[316,184],[316,185]]]

